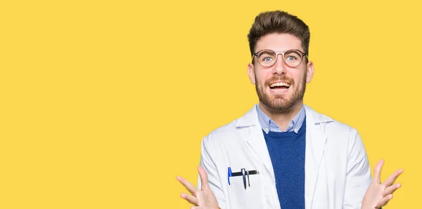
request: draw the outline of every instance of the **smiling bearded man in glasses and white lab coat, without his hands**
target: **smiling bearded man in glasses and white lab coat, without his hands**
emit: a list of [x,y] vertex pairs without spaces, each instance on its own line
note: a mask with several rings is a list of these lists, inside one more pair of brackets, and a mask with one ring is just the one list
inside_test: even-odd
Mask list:
[[357,130],[303,104],[309,37],[286,12],[255,18],[248,75],[260,103],[201,146],[220,208],[361,208],[371,171]]

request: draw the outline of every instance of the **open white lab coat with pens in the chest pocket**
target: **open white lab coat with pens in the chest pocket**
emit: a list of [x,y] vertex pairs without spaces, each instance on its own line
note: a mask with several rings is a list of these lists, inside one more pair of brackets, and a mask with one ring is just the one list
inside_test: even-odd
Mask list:
[[[212,131],[201,144],[200,166],[222,209],[281,208],[256,105]],[[357,130],[307,105],[305,112],[305,208],[361,208],[371,169]],[[232,172],[245,168],[259,174],[249,176],[250,187],[245,189],[243,177],[230,177],[228,184],[228,167]]]

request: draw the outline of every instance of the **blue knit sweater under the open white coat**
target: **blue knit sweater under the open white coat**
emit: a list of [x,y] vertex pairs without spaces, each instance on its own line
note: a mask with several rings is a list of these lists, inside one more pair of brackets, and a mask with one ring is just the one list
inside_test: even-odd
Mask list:
[[305,208],[306,119],[298,133],[264,133],[283,209]]

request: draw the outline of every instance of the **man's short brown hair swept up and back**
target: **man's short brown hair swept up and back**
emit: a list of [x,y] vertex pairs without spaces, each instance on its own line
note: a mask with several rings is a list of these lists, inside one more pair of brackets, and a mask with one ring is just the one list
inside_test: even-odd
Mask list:
[[267,34],[291,34],[298,37],[302,43],[304,53],[309,54],[309,27],[295,15],[284,11],[268,11],[260,13],[250,27],[248,34],[250,55],[255,53],[257,41]]

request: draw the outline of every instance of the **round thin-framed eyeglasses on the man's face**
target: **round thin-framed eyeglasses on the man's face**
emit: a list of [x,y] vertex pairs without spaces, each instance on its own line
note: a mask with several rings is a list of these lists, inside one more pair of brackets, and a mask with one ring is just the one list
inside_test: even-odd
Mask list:
[[253,54],[252,61],[253,57],[257,56],[258,63],[260,63],[262,67],[271,67],[277,62],[279,54],[283,56],[284,63],[286,63],[289,67],[298,67],[300,63],[302,63],[303,58],[305,56],[307,57],[306,53],[302,53],[298,49],[286,50],[279,53],[276,53],[271,49],[264,49]]

